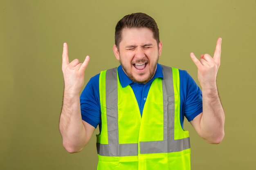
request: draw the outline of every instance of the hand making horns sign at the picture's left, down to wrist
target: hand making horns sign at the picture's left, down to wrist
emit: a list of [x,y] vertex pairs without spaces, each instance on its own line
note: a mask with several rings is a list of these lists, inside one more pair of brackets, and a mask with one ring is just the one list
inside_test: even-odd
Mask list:
[[79,94],[84,84],[85,68],[87,67],[89,60],[90,57],[87,55],[83,63],[80,63],[78,59],[69,62],[67,43],[63,44],[62,72],[66,93]]

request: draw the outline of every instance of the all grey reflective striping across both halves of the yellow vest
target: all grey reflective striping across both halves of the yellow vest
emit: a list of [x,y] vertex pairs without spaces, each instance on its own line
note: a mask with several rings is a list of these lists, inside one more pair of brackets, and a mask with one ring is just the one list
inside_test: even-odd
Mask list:
[[[164,140],[140,142],[140,153],[178,152],[190,148],[189,137],[174,140],[174,90],[172,69],[163,66],[162,79],[164,105]],[[138,155],[138,144],[119,144],[117,106],[117,68],[106,71],[106,113],[108,144],[98,144],[97,152],[102,156]]]

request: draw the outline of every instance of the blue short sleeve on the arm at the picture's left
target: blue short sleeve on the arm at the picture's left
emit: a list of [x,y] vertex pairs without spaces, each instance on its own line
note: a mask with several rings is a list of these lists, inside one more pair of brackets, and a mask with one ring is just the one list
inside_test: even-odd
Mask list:
[[92,77],[80,96],[81,116],[88,124],[97,128],[101,121],[99,102],[99,74]]

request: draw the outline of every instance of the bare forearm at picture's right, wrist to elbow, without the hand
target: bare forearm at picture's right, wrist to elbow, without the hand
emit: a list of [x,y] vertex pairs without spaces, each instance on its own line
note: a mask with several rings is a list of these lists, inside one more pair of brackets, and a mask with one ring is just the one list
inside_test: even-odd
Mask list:
[[202,88],[202,98],[201,135],[207,142],[218,144],[224,137],[225,115],[216,84]]

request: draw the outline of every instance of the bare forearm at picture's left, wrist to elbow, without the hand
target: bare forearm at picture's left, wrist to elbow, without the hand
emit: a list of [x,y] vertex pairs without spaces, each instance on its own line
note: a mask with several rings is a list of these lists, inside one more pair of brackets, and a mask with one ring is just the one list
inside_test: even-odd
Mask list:
[[79,93],[64,91],[59,128],[63,146],[68,152],[79,152],[86,144],[85,127],[81,119]]

